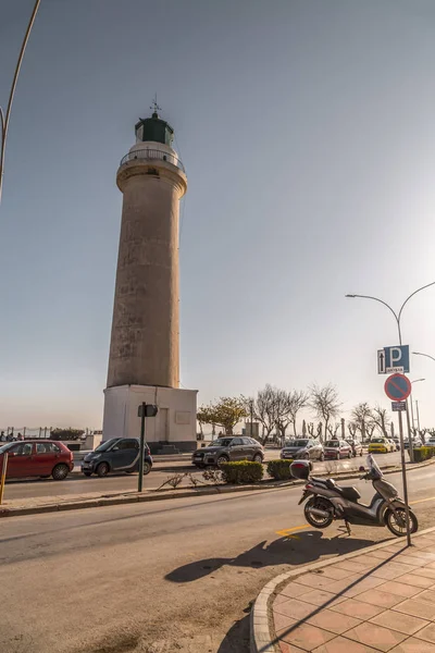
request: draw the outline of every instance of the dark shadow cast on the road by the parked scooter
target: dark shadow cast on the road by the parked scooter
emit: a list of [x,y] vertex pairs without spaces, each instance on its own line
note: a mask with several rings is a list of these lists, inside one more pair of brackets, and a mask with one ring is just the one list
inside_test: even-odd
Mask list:
[[[297,538],[297,539],[296,539]],[[341,555],[373,544],[372,540],[336,535],[327,538],[322,532],[309,530],[289,538],[279,538],[268,545],[264,540],[236,558],[204,558],[183,565],[166,575],[172,582],[191,582],[220,569],[223,565],[232,567],[269,567],[277,565],[306,565],[322,556]]]

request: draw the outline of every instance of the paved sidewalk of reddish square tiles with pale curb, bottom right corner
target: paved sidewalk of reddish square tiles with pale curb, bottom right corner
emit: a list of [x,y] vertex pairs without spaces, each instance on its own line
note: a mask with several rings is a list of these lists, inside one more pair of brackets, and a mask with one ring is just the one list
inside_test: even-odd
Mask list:
[[251,616],[254,653],[434,653],[435,528],[294,569]]

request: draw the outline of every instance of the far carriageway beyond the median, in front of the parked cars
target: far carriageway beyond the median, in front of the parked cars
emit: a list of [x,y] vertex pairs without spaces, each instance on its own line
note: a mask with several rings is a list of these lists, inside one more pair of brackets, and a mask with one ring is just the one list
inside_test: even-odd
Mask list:
[[[278,457],[279,452],[266,451],[266,459],[273,459]],[[380,464],[394,465],[399,464],[399,454],[384,454],[376,456]],[[350,460],[344,459],[339,461],[328,461],[325,464],[314,463],[314,469],[318,472],[325,471],[326,468],[334,473],[336,470],[344,471],[348,469],[356,469],[361,464],[365,463],[365,456],[362,458],[351,458]],[[202,472],[197,472],[196,468],[190,465],[186,467],[185,464],[173,463],[173,471],[162,471],[167,469],[167,464],[158,463],[151,470],[151,472],[145,477],[144,486],[147,488],[159,488],[164,481],[171,476],[177,472],[192,472],[198,479],[202,479]],[[18,500],[18,498],[32,498],[36,496],[50,496],[55,494],[57,496],[67,496],[69,494],[82,494],[86,492],[123,492],[130,491],[137,488],[137,475],[113,475],[99,479],[98,477],[86,478],[79,472],[79,466],[76,467],[76,472],[70,475],[64,481],[53,481],[52,479],[33,479],[27,481],[8,481],[4,498]],[[188,479],[184,480],[184,484],[191,486]]]

